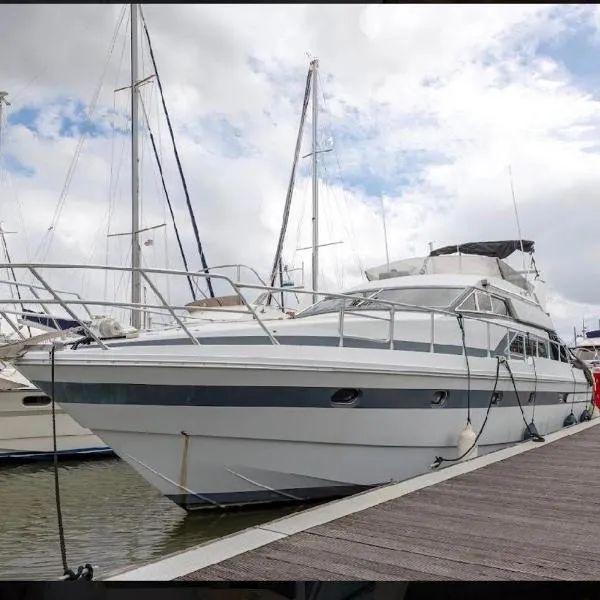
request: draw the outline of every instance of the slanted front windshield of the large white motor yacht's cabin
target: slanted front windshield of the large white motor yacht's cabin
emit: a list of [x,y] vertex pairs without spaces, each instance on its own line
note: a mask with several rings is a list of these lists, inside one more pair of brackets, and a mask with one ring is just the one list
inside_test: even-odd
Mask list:
[[[362,296],[364,300],[350,298],[325,297],[316,304],[309,306],[297,317],[307,317],[328,312],[344,310],[387,310],[389,306],[377,300],[398,302],[423,308],[448,308],[463,293],[464,288],[397,288],[385,290],[363,290],[352,292],[352,296]],[[405,309],[410,310],[410,309]]]

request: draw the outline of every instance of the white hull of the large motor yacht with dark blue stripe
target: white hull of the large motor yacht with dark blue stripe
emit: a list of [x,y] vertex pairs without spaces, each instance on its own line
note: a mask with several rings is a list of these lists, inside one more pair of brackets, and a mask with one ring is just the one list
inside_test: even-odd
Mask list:
[[[332,498],[425,473],[436,457],[457,456],[469,412],[479,431],[497,365],[471,358],[468,386],[463,356],[212,346],[181,349],[175,360],[157,352],[57,353],[57,400],[186,510]],[[31,353],[19,368],[47,391],[43,361],[47,354]],[[544,435],[589,405],[582,372],[536,362],[534,374],[509,361],[521,407],[501,366],[503,396],[489,409],[480,454],[523,440],[525,422]],[[340,389],[361,395],[335,404]],[[443,406],[432,404],[439,391],[448,392]]]

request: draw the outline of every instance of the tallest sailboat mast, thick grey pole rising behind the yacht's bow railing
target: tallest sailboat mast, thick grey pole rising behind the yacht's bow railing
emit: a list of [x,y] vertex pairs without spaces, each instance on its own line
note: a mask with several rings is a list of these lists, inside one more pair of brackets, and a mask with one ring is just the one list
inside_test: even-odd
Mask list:
[[[138,5],[131,4],[131,302],[140,304],[142,299],[140,247],[140,177],[139,177],[139,91],[138,82]],[[138,309],[131,312],[131,325],[141,328]]]

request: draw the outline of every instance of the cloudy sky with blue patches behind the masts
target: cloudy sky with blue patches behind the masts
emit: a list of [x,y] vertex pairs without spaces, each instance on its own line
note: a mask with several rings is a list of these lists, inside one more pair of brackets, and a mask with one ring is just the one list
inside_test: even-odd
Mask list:
[[[570,340],[600,319],[600,12],[593,4],[143,6],[209,265],[266,275],[311,57],[319,59],[321,287],[434,246],[536,243],[548,310]],[[13,261],[127,265],[129,11],[0,6],[0,221]],[[140,79],[152,72],[140,34]],[[199,254],[155,80],[140,88],[186,255]],[[143,112],[142,112],[142,119]],[[311,150],[311,117],[301,155]],[[145,119],[146,266],[181,268]],[[510,169],[510,170],[509,170]],[[284,259],[310,285],[311,163],[300,160]],[[296,283],[301,272],[294,273]],[[53,274],[112,297],[121,275]],[[248,279],[248,278],[247,278]],[[186,285],[164,285],[187,301]],[[223,289],[223,293],[229,293]]]

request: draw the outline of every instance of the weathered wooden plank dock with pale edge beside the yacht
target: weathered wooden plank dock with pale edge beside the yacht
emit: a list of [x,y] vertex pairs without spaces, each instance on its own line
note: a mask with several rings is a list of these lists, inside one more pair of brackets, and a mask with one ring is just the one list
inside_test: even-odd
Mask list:
[[596,580],[600,419],[110,580]]

